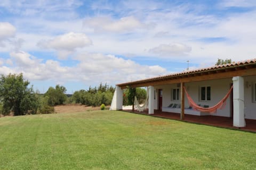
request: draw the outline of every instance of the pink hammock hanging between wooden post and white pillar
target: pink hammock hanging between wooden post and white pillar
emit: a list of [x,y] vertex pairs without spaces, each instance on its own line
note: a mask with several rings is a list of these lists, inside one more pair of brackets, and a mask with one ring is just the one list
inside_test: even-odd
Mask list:
[[184,91],[187,95],[187,98],[188,98],[188,103],[189,103],[189,106],[191,106],[194,110],[196,111],[200,111],[200,112],[205,112],[205,113],[216,113],[217,109],[222,109],[226,106],[226,100],[227,98],[229,97],[230,95],[230,92],[231,90],[233,89],[233,86],[230,88],[230,90],[228,91],[227,95],[221,99],[219,101],[219,103],[217,103],[216,105],[212,106],[212,107],[208,107],[208,108],[204,108],[204,107],[201,107],[201,106],[198,106],[195,101],[189,96],[187,90],[184,88]]

